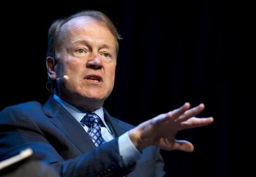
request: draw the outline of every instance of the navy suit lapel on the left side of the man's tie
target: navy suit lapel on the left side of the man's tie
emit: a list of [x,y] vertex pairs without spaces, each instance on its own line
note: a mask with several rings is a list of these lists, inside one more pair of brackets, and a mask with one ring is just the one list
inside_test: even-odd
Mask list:
[[50,122],[61,130],[82,153],[87,153],[95,148],[93,141],[80,123],[53,96],[43,105],[43,109],[49,116]]

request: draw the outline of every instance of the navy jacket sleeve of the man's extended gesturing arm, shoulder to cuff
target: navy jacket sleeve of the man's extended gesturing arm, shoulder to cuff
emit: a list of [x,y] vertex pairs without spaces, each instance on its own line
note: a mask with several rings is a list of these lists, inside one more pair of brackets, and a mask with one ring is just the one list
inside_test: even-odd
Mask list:
[[0,112],[0,161],[31,148],[41,160],[63,177],[125,176],[126,168],[118,149],[118,138],[74,159],[64,160],[45,138],[45,134],[22,109],[7,107]]

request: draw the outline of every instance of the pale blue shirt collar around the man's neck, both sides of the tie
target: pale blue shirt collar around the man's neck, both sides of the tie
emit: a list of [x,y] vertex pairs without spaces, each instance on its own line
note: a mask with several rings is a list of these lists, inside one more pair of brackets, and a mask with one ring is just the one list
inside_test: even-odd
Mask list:
[[[58,101],[59,104],[61,104],[79,123],[82,120],[82,118],[88,113],[85,109],[78,109],[77,107],[75,107],[75,105],[71,105],[69,103],[67,103],[66,101],[62,100],[61,98],[59,98],[57,95],[53,95],[54,99],[56,101]],[[107,128],[107,130],[109,131],[109,133],[111,133],[109,127],[107,126],[105,120],[104,120],[104,112],[103,112],[103,107],[101,106],[100,108],[96,109],[93,111],[93,113],[97,114],[99,116],[99,118],[101,118],[101,121],[103,122],[103,124],[105,125],[105,127]],[[111,133],[112,134],[112,133]]]

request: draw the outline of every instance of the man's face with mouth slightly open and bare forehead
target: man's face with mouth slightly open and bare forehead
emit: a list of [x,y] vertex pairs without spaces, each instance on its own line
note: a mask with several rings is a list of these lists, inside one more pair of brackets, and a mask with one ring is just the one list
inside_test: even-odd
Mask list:
[[[61,47],[55,66],[65,100],[82,103],[103,101],[114,86],[116,41],[110,30],[88,17],[76,17],[61,28]],[[103,103],[102,103],[103,104]]]

